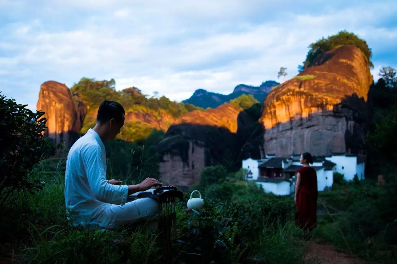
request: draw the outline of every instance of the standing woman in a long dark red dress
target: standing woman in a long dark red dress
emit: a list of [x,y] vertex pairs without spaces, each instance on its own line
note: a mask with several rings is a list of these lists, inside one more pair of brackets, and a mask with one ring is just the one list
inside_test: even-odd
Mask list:
[[297,172],[295,184],[295,203],[297,214],[295,224],[303,230],[312,231],[317,226],[317,174],[309,163],[313,163],[312,155],[305,152],[299,162],[303,164]]

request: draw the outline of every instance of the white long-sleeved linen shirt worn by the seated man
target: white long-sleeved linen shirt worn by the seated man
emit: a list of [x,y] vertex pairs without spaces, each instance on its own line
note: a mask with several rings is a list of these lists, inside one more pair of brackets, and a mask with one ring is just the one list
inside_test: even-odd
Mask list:
[[73,225],[95,222],[112,204],[124,205],[128,186],[106,180],[105,146],[91,128],[71,147],[66,159],[65,202],[67,218]]

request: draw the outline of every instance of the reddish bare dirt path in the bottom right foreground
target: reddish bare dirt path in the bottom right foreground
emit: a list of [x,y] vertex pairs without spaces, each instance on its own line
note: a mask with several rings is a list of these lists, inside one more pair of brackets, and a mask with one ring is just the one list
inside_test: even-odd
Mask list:
[[307,245],[306,257],[309,263],[321,264],[364,264],[365,261],[357,256],[349,256],[340,253],[331,245],[319,244],[318,241],[310,241]]

